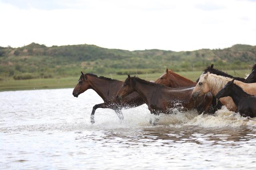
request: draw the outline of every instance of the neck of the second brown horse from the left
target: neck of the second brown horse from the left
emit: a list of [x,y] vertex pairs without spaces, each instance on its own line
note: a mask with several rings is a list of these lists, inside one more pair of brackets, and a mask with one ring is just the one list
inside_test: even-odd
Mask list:
[[[136,81],[136,80],[134,80],[134,81]],[[152,91],[154,91],[154,90],[152,90],[154,88],[156,88],[156,87],[154,87],[150,84],[139,82],[139,81],[136,81],[135,86],[134,86],[135,91],[140,95],[140,97],[144,100],[144,102],[147,105],[150,104],[149,96],[152,96],[151,93],[152,93]]]

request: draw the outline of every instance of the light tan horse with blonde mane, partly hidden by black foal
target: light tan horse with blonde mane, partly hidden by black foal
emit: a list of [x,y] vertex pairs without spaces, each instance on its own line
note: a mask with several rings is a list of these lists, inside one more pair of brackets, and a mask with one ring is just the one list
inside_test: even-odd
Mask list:
[[[216,74],[202,74],[196,87],[192,92],[194,99],[198,96],[202,96],[207,92],[211,92],[214,96],[229,82],[233,80],[229,77],[218,76]],[[243,83],[241,81],[235,80],[234,83],[240,86],[244,92],[256,96],[256,83]],[[231,97],[220,98],[220,102],[225,105],[230,111],[236,111],[236,105],[234,104]]]

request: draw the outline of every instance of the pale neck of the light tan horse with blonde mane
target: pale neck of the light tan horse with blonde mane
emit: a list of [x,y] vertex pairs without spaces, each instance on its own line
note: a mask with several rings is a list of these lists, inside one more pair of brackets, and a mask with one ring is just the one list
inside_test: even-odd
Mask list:
[[217,80],[210,80],[209,77],[206,79],[208,86],[210,88],[210,92],[213,95],[216,95],[229,81],[231,80],[224,80],[222,78],[216,78]]

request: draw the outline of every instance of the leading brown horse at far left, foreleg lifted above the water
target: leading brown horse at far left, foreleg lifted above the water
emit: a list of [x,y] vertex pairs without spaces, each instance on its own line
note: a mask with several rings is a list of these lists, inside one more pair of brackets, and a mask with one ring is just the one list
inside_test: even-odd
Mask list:
[[83,74],[78,80],[78,84],[73,90],[73,96],[78,97],[79,94],[85,92],[88,89],[94,90],[104,101],[104,103],[96,104],[92,108],[91,123],[94,121],[94,113],[97,108],[109,108],[113,109],[118,115],[119,119],[123,119],[121,112],[122,108],[137,107],[144,104],[144,101],[136,92],[130,94],[124,100],[116,100],[116,93],[122,86],[123,82],[119,80],[113,80],[106,77],[98,77],[95,74]]

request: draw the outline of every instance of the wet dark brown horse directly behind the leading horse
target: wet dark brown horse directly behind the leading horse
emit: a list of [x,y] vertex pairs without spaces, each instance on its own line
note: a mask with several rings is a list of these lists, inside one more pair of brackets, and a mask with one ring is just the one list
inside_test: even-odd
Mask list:
[[[133,92],[138,92],[140,97],[148,105],[148,109],[151,113],[168,114],[170,113],[171,108],[189,110],[196,108],[198,103],[202,103],[202,101],[194,102],[192,99],[191,93],[193,89],[194,87],[170,88],[162,84],[142,80],[138,77],[130,77],[128,74],[128,78],[126,78],[116,97],[124,98]],[[212,103],[212,95],[206,95],[206,100],[208,100],[209,104],[205,106],[205,112],[208,111],[210,104]]]

